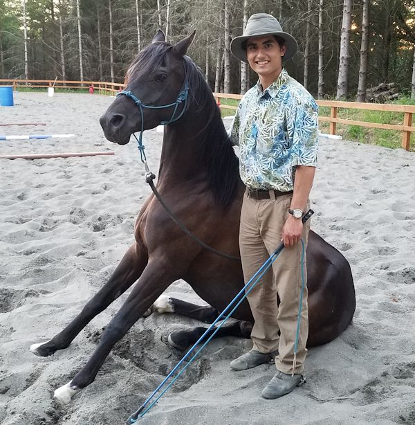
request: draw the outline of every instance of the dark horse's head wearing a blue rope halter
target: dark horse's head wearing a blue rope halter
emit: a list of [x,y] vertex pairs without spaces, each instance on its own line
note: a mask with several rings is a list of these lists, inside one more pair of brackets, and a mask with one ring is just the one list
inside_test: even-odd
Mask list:
[[171,122],[175,108],[176,118],[181,114],[185,102],[176,100],[185,89],[183,56],[194,34],[172,45],[158,30],[153,42],[138,53],[127,71],[127,87],[100,118],[109,141],[126,145],[134,132]]

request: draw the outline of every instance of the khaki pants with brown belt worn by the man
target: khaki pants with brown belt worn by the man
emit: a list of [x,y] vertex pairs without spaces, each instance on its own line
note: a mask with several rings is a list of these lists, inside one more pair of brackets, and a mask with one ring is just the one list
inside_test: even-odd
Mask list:
[[[245,282],[264,264],[282,238],[282,227],[288,217],[292,194],[273,199],[257,200],[243,196],[239,246]],[[308,207],[308,206],[307,206]],[[304,224],[302,239],[305,247],[310,228],[309,220]],[[248,302],[255,318],[251,338],[253,350],[269,353],[278,350],[275,365],[281,372],[293,371],[295,335],[299,298],[302,287],[301,272],[302,243],[284,248],[272,269],[261,278],[248,294]],[[306,279],[306,257],[304,255],[304,278]],[[279,305],[277,305],[279,298]],[[297,362],[295,373],[304,372],[306,342],[308,337],[307,287],[302,299],[302,318],[299,327]]]

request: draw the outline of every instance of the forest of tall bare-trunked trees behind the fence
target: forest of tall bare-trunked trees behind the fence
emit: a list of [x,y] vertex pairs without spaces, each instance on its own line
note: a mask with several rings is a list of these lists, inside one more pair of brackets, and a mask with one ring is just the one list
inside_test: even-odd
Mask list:
[[0,0],[0,78],[122,82],[158,28],[172,43],[196,29],[212,90],[244,93],[257,77],[229,46],[255,12],[297,39],[286,68],[315,97],[365,101],[387,82],[415,98],[412,0]]

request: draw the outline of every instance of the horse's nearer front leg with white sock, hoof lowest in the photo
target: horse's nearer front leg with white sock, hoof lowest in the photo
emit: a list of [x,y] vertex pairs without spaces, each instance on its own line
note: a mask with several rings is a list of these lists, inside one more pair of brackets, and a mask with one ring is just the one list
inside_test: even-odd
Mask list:
[[124,305],[102,333],[91,359],[70,382],[55,390],[57,401],[67,404],[77,391],[93,382],[113,346],[176,278],[169,266],[160,264],[159,260],[149,260]]

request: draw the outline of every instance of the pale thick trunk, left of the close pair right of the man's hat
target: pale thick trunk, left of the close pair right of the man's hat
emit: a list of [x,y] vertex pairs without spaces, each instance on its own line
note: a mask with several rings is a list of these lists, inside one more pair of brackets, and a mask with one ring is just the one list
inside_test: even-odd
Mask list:
[[349,46],[350,46],[350,25],[351,25],[351,5],[352,0],[344,0],[342,35],[340,39],[340,59],[338,89],[336,98],[347,97],[347,77],[349,71]]

